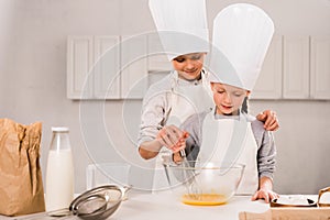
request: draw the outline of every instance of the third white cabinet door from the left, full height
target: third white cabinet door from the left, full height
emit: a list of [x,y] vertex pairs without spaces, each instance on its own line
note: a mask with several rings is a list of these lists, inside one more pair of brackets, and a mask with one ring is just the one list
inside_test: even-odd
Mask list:
[[147,89],[147,36],[121,41],[121,98],[142,99]]

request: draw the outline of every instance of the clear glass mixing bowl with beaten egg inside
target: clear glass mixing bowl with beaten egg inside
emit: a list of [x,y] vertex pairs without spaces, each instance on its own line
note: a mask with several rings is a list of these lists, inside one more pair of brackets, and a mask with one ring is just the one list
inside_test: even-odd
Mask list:
[[168,184],[182,202],[195,206],[218,206],[235,194],[244,165],[187,161],[164,163]]

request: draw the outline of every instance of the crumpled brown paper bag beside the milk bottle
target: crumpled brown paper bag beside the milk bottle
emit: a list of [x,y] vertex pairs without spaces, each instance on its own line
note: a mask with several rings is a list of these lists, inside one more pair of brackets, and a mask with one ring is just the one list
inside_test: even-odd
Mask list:
[[45,210],[40,166],[42,123],[19,124],[0,119],[0,215]]

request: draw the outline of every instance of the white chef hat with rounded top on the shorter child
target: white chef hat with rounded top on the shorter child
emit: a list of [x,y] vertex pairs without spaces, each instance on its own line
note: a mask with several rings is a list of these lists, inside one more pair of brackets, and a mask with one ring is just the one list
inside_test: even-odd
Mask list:
[[272,41],[274,23],[260,8],[231,4],[213,21],[210,80],[252,90]]

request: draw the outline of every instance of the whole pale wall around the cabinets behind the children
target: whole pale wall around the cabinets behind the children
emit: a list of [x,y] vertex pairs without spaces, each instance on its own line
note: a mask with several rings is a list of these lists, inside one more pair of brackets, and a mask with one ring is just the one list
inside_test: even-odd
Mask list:
[[[209,25],[224,6],[238,1],[208,0]],[[255,0],[275,21],[277,34],[330,35],[329,0]],[[131,6],[133,4],[133,6]],[[127,35],[154,29],[147,0],[1,0],[0,117],[21,123],[43,122],[42,168],[45,174],[51,127],[67,125],[75,153],[76,191],[85,189],[89,156],[80,133],[79,102],[66,98],[67,35]],[[134,164],[148,167],[128,139],[121,114],[132,109],[132,134],[138,131],[141,101],[107,101],[107,128],[116,146]],[[253,101],[252,111],[277,111],[278,168],[275,187],[282,194],[316,194],[330,185],[329,101]],[[124,108],[123,108],[124,107]],[[90,116],[90,121],[94,116]],[[135,124],[135,125],[134,125]],[[95,131],[98,135],[98,131]],[[118,138],[118,140],[117,140]],[[89,150],[90,151],[90,150]],[[117,161],[118,154],[103,155]],[[147,186],[148,174],[135,178]],[[136,180],[138,179],[138,180]],[[299,183],[299,184],[298,184]]]

